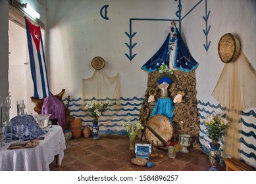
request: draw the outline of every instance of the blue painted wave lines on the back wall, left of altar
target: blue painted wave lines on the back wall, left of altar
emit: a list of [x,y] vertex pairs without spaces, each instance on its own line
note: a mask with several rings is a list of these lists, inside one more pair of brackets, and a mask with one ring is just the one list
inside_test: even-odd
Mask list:
[[[112,101],[116,99],[86,99],[86,101]],[[143,103],[144,98],[132,97],[124,98],[120,97],[121,108],[120,110],[112,108],[111,106],[101,115],[99,118],[99,134],[127,134],[123,129],[122,123],[126,120],[131,120],[131,122],[136,122],[139,120],[140,108]],[[68,99],[63,99],[64,104],[68,103]],[[82,110],[82,98],[70,99],[68,109],[70,110],[70,115],[74,118],[82,119],[82,126],[92,127],[92,118],[88,112]],[[115,103],[114,103],[115,104]]]

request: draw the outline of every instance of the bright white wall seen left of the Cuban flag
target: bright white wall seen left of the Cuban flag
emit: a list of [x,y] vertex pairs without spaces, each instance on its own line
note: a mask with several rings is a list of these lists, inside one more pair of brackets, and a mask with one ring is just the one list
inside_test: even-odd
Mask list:
[[[17,115],[16,101],[24,100],[25,110],[27,103],[26,71],[30,72],[29,61],[26,60],[28,49],[26,30],[9,20],[9,91],[11,95],[10,119]],[[28,63],[28,64],[24,64]],[[32,78],[30,78],[32,80]],[[29,91],[28,91],[29,92]],[[31,93],[30,93],[31,94]],[[32,93],[33,94],[33,93]]]

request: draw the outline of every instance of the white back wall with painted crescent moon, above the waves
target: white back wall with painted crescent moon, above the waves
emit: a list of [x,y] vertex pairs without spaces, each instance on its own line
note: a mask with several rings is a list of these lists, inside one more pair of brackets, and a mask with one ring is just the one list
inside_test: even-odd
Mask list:
[[[124,43],[129,43],[130,18],[176,18],[178,3],[170,1],[47,1],[47,27],[49,42],[49,74],[51,91],[81,97],[82,78],[93,73],[91,60],[105,59],[104,72],[113,76],[120,73],[122,97],[144,97],[147,72],[140,67],[155,54],[165,41],[170,22],[137,21],[132,32],[137,32],[133,43],[138,43],[130,62]],[[101,18],[99,11],[109,5],[109,20]]]

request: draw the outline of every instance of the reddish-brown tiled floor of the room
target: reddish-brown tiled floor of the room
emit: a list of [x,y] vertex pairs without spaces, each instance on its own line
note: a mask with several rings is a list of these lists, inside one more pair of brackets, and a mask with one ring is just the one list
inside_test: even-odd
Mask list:
[[[139,140],[137,140],[137,143]],[[207,171],[211,168],[208,155],[199,147],[188,148],[190,152],[176,153],[176,158],[168,157],[168,152],[155,150],[150,156],[155,166],[136,166],[131,163],[135,158],[134,150],[130,150],[128,135],[101,135],[98,140],[90,137],[79,137],[66,142],[64,158],[61,166],[50,165],[52,171]],[[218,170],[224,170],[218,166]]]

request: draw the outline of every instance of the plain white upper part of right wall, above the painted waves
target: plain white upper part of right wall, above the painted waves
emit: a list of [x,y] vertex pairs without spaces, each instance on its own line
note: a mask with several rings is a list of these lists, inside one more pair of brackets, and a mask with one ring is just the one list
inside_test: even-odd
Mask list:
[[[188,1],[183,5],[184,12],[189,11],[195,5],[196,0]],[[218,41],[228,32],[238,35],[245,53],[251,64],[256,68],[255,42],[253,33],[256,30],[256,1],[253,0],[208,0],[207,11],[211,11],[208,26],[211,30],[208,40],[211,41],[209,51],[206,52],[205,43],[205,1],[198,5],[190,16],[182,21],[182,30],[186,43],[193,57],[199,62],[197,74],[197,97],[202,101],[216,103],[211,93],[222,72],[224,63],[218,57]],[[188,4],[188,5],[187,5]]]

